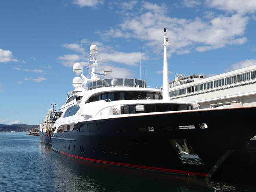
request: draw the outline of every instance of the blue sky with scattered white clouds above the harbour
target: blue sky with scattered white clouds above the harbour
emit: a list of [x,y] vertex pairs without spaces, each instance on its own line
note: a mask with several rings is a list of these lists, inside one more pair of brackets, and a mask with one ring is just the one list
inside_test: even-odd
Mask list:
[[147,86],[162,86],[163,28],[170,81],[256,64],[256,0],[2,0],[0,124],[39,125],[51,102],[60,108],[93,43],[98,72],[140,78],[141,62]]

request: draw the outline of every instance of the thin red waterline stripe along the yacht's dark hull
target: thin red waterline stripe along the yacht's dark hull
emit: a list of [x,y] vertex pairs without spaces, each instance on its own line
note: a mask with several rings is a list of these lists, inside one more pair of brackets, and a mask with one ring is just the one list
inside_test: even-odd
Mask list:
[[166,169],[166,168],[157,168],[157,167],[148,167],[148,166],[142,166],[142,165],[133,165],[133,164],[126,164],[126,163],[119,163],[119,162],[111,162],[111,161],[104,161],[104,160],[97,160],[92,158],[85,158],[85,157],[79,157],[76,155],[71,155],[68,153],[65,153],[63,151],[60,151],[60,153],[64,155],[68,155],[70,157],[80,158],[83,160],[93,161],[93,162],[99,162],[99,163],[105,163],[105,164],[112,164],[112,165],[119,165],[119,166],[127,166],[132,168],[140,168],[140,169],[147,169],[147,170],[155,170],[155,171],[165,171],[170,173],[180,173],[180,174],[189,174],[189,175],[198,175],[206,177],[206,173],[199,173],[199,172],[191,172],[191,171],[182,171],[182,170],[173,170],[173,169]]

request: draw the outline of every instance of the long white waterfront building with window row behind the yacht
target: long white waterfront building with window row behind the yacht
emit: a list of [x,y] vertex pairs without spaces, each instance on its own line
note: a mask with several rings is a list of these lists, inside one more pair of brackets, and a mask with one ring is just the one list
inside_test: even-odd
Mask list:
[[170,99],[194,101],[200,109],[232,103],[256,106],[256,65],[209,78],[176,75],[176,80],[169,82],[169,91]]

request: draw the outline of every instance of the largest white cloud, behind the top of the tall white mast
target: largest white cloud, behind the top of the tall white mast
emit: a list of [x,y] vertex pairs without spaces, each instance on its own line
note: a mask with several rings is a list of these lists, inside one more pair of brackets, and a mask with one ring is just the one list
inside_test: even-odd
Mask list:
[[[243,37],[249,17],[234,14],[219,15],[213,19],[178,19],[168,17],[165,7],[149,2],[142,3],[144,12],[134,17],[124,17],[117,28],[110,28],[101,37],[136,38],[160,54],[163,43],[163,28],[167,27],[169,53],[188,53],[192,47],[198,51],[210,50],[226,45],[239,45],[247,41]],[[145,12],[146,11],[146,12]],[[213,16],[213,15],[212,15]],[[209,47],[205,47],[209,46]]]

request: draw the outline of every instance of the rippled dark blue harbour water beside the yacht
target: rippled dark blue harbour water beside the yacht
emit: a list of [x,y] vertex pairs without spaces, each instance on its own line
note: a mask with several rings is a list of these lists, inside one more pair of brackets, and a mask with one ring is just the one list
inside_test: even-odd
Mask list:
[[0,191],[256,191],[254,183],[225,183],[84,162],[58,154],[39,137],[0,133]]

